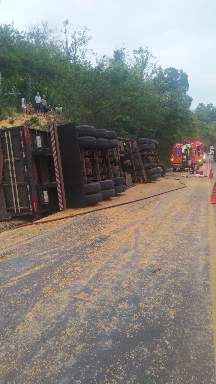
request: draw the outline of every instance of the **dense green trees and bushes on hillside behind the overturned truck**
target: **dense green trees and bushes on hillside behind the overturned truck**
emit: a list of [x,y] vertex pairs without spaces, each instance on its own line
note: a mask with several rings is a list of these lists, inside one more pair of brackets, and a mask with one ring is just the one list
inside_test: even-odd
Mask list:
[[[88,50],[88,29],[58,28],[42,21],[20,32],[0,25],[1,117],[7,107],[20,111],[20,99],[34,103],[37,91],[60,103],[64,119],[115,130],[123,137],[154,137],[168,160],[174,141],[202,139],[214,144],[216,108],[203,103],[191,111],[188,76],[157,66],[148,48],[132,55],[123,46],[112,57]],[[87,56],[93,55],[94,65]],[[5,109],[6,107],[6,109]]]

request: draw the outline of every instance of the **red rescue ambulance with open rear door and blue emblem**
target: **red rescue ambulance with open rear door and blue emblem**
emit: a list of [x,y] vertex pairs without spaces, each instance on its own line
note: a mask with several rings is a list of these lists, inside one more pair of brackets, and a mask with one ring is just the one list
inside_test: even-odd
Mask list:
[[177,169],[199,169],[203,165],[203,143],[199,141],[178,142],[173,145],[172,167]]

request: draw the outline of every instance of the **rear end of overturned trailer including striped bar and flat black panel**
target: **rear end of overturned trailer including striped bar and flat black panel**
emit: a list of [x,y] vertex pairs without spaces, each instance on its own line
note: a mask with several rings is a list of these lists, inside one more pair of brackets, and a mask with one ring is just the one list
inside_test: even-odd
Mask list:
[[85,207],[76,125],[59,126],[58,131],[62,154],[56,137],[56,175],[49,131],[25,126],[0,130],[0,220]]

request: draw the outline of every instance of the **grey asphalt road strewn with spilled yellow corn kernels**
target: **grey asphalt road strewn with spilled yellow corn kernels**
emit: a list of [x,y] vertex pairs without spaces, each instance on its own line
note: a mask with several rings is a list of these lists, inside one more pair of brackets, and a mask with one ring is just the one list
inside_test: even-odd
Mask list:
[[213,181],[181,181],[0,256],[1,384],[216,382]]

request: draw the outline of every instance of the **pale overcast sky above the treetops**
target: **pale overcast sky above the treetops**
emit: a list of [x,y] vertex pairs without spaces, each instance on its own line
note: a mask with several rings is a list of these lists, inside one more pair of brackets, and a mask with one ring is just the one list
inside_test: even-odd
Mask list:
[[99,56],[112,55],[122,43],[148,46],[163,68],[188,74],[192,108],[216,105],[215,0],[1,0],[0,23],[14,21],[19,30],[41,19],[87,25],[90,45]]

